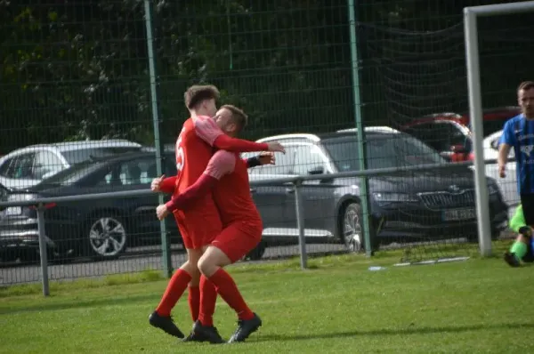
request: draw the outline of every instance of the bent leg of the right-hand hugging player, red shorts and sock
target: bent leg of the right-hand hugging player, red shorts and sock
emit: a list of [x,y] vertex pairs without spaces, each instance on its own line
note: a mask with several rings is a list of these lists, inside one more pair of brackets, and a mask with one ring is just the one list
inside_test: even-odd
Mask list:
[[[223,267],[239,261],[244,254],[254,249],[261,239],[261,229],[241,224],[233,224],[223,229],[198,261],[198,269],[208,280],[206,283],[213,283],[217,293],[238,314],[239,326],[229,342],[246,340],[262,325],[262,320],[247,306],[233,278],[223,270]],[[213,318],[214,306],[210,305],[200,302],[199,319],[206,321]]]

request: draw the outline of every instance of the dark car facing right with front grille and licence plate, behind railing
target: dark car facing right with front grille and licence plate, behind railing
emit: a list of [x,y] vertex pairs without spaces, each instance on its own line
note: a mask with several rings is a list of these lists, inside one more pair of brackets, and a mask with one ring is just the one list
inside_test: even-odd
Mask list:
[[[447,163],[425,143],[390,127],[368,127],[366,138],[368,169]],[[360,169],[355,130],[260,141],[279,141],[286,154],[277,156],[276,165],[251,169],[250,181],[325,173],[320,181],[302,185],[306,242],[333,240],[359,251],[364,242],[360,179],[328,177]],[[368,185],[373,249],[388,241],[477,237],[473,171],[468,168],[392,173],[370,177]],[[488,179],[488,188],[491,229],[497,237],[507,225],[507,206],[493,179]],[[252,193],[263,218],[263,245],[296,242],[294,187],[253,186]]]

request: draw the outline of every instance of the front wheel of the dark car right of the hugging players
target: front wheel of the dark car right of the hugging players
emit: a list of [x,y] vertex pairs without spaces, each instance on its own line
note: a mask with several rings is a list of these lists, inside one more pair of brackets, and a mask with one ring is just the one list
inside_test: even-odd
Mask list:
[[361,206],[349,203],[340,215],[341,240],[350,252],[361,252],[363,246],[363,228],[361,226]]

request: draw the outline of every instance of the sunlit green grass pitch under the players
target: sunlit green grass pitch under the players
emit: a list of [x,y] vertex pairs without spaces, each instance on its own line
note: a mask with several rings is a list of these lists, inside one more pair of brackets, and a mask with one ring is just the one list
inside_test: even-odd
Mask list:
[[[532,269],[498,259],[388,267],[343,255],[298,262],[239,265],[230,272],[263,327],[246,343],[181,343],[148,324],[165,280],[131,278],[0,291],[2,353],[529,353],[534,328]],[[150,281],[151,280],[151,281]],[[191,325],[187,299],[174,310]],[[235,317],[221,300],[216,326],[228,338]]]

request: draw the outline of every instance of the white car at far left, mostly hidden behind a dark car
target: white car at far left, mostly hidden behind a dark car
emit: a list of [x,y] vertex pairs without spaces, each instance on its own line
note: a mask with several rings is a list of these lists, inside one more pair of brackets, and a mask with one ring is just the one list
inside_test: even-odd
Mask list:
[[0,184],[8,189],[28,189],[55,173],[92,157],[106,157],[141,149],[142,145],[125,140],[32,145],[0,157]]

